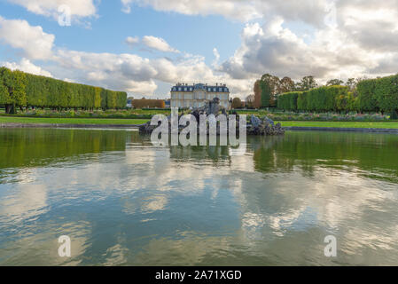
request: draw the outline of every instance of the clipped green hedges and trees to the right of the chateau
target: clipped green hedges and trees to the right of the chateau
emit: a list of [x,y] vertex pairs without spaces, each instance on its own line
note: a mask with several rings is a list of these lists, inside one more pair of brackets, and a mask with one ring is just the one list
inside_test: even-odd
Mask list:
[[376,79],[332,79],[319,87],[313,76],[295,83],[289,77],[263,75],[254,83],[257,108],[285,110],[381,112],[398,114],[398,75]]

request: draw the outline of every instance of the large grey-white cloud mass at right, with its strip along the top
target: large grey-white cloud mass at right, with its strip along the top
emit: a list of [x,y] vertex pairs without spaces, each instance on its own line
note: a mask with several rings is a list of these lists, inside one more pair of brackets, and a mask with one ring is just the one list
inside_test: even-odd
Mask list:
[[[156,11],[187,15],[222,15],[255,20],[246,25],[242,45],[217,68],[236,79],[269,72],[299,78],[387,75],[397,69],[398,6],[396,0],[128,0]],[[311,35],[293,32],[309,25]],[[216,56],[215,56],[216,57]],[[217,58],[217,57],[216,57]]]

